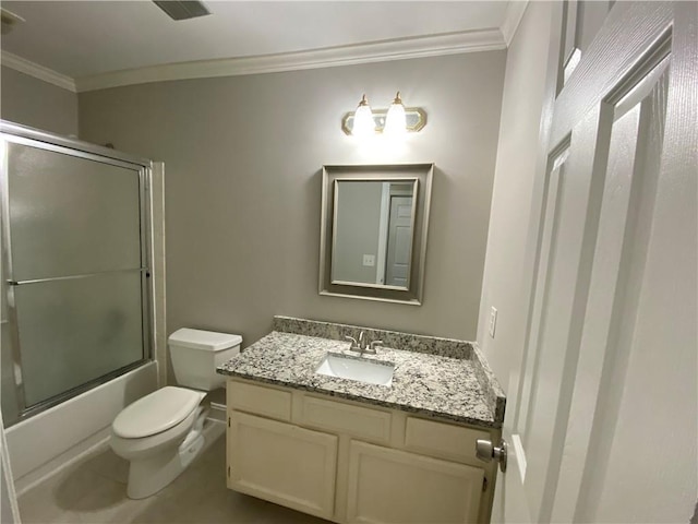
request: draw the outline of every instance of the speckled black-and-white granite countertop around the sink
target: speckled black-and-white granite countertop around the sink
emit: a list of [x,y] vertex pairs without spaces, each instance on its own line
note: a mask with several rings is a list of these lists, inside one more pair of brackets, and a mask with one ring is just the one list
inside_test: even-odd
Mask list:
[[[279,327],[276,319],[275,327]],[[218,372],[434,418],[501,428],[504,393],[477,347],[469,347],[461,358],[389,347],[380,347],[377,355],[364,354],[362,358],[395,365],[393,385],[385,386],[315,373],[327,352],[357,356],[349,350],[348,342],[274,331],[218,367]]]

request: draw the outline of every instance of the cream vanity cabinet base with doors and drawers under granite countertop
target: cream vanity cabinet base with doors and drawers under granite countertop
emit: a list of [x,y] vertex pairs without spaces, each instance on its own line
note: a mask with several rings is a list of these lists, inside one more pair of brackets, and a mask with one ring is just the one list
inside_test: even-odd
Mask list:
[[238,378],[228,381],[228,487],[338,523],[484,523],[500,430]]

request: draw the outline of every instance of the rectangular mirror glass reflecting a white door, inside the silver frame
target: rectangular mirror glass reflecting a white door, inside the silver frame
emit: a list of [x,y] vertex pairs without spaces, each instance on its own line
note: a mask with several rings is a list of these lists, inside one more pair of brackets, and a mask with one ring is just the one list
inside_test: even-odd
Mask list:
[[335,180],[333,284],[409,289],[418,183]]

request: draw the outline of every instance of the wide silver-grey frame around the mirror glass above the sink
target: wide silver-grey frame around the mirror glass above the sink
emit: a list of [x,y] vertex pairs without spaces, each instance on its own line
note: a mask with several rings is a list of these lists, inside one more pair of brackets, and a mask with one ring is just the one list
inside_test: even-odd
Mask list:
[[[433,177],[434,164],[323,166],[320,227],[320,295],[421,306],[424,288],[426,234],[429,230]],[[409,287],[407,289],[395,289],[389,287],[370,287],[361,283],[333,284],[332,248],[334,245],[333,218],[335,216],[335,180],[398,181],[405,180],[406,178],[418,179]]]

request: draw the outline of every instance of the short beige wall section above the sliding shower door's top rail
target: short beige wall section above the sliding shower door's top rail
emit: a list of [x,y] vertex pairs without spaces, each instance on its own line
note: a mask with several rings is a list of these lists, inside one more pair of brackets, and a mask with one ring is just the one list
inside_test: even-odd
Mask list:
[[52,133],[77,135],[77,95],[28,74],[0,68],[0,116]]

